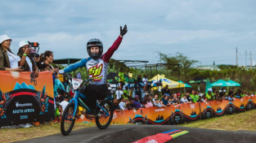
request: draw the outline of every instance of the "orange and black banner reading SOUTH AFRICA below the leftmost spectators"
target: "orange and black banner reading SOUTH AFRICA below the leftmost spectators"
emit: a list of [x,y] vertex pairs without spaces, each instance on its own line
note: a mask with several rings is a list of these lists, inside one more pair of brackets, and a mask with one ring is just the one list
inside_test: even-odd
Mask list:
[[52,72],[0,72],[0,126],[54,119]]

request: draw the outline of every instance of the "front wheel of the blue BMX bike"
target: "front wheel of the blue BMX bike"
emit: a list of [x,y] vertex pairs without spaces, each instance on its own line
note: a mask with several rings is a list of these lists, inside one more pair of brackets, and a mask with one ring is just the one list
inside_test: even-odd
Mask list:
[[68,104],[65,107],[65,111],[63,112],[62,118],[61,118],[61,133],[64,136],[67,136],[72,131],[72,128],[74,127],[74,121],[75,116],[73,116],[74,113],[74,102]]

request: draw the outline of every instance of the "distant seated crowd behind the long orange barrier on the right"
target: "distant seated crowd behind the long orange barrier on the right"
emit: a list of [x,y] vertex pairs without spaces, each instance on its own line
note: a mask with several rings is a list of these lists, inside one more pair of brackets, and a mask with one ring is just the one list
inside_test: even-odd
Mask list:
[[[138,76],[138,80],[140,78],[141,76]],[[119,86],[115,93],[112,92],[111,97],[114,98],[115,111],[137,110],[138,108],[147,108],[150,106],[175,106],[183,103],[209,102],[213,100],[234,101],[235,98],[254,95],[254,93],[242,92],[240,89],[237,89],[236,92],[234,92],[234,89],[229,89],[229,92],[227,92],[226,89],[220,89],[218,91],[208,89],[208,92],[204,94],[195,89],[187,90],[185,94],[172,93],[171,90],[168,89],[168,85],[161,89],[159,93],[158,90],[144,89],[144,84],[146,83],[142,80],[138,82],[138,80],[134,81],[133,86],[124,85],[124,88]],[[143,92],[145,92],[144,97],[141,96]]]

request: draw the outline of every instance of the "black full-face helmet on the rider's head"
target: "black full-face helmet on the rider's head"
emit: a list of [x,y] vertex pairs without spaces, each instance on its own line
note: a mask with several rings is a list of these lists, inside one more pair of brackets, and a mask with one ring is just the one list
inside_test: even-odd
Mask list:
[[[92,54],[91,53],[91,47],[92,46],[98,46],[99,47],[99,53],[98,54],[96,54],[96,53]],[[103,53],[103,44],[99,39],[93,38],[93,39],[88,41],[87,49],[88,49],[88,54],[89,54],[90,57],[92,57],[92,58],[101,58],[101,55]]]

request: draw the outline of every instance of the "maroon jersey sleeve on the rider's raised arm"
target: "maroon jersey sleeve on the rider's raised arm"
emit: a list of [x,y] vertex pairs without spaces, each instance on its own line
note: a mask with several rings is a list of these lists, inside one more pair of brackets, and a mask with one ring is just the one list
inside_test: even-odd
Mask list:
[[117,50],[119,48],[119,45],[121,44],[121,41],[123,40],[123,37],[118,37],[116,39],[116,41],[114,42],[114,44],[112,46],[110,46],[109,50],[106,51],[105,54],[102,55],[102,60],[105,63],[109,63],[110,58],[112,57],[112,55],[114,54],[115,50]]

